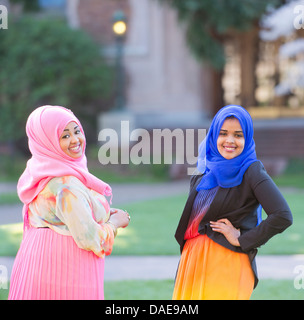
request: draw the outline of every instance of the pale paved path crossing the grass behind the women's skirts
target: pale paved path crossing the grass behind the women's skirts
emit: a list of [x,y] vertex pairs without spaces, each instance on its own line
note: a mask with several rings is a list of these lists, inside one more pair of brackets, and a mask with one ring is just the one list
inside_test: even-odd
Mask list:
[[[109,256],[105,260],[105,280],[174,279],[178,261],[179,256]],[[4,266],[10,277],[13,263],[13,257],[0,257],[0,270]],[[304,255],[258,255],[257,266],[260,279],[294,279],[298,274],[295,268],[304,269]]]

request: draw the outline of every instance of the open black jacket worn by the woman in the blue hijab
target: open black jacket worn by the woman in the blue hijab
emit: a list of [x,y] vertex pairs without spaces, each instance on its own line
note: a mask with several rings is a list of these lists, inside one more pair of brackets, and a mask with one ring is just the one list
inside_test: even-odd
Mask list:
[[[184,234],[188,226],[196,187],[203,175],[194,175],[190,182],[190,193],[179,221],[175,238],[182,252]],[[257,226],[257,208],[262,205],[268,215]],[[231,245],[221,233],[212,231],[209,222],[221,218],[228,219],[235,228],[240,228],[240,247]],[[271,237],[284,231],[292,224],[292,215],[287,202],[278,187],[267,174],[261,162],[254,162],[245,172],[242,183],[233,188],[219,188],[209,210],[199,224],[198,232],[206,234],[216,243],[235,252],[247,253],[258,283],[255,256],[257,248]]]

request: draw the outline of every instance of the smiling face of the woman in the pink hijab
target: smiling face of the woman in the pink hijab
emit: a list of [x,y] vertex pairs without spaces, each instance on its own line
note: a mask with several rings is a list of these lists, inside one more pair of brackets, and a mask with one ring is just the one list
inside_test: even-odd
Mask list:
[[76,122],[69,122],[59,139],[62,151],[71,158],[82,156],[85,138]]

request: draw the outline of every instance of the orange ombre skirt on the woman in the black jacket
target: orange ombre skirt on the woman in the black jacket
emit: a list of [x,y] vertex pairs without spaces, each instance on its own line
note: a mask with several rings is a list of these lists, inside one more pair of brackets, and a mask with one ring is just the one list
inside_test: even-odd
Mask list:
[[249,300],[253,287],[247,254],[200,235],[183,248],[173,300]]

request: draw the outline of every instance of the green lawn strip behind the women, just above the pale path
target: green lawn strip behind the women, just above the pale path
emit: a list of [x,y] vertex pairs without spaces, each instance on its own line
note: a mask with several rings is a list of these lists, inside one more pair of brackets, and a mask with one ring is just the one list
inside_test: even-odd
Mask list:
[[[132,219],[128,228],[120,229],[113,255],[178,255],[174,233],[186,195],[142,201],[124,208]],[[304,254],[303,194],[285,195],[294,223],[284,233],[260,248],[260,254]],[[14,256],[22,239],[22,224],[0,226],[0,255]]]

